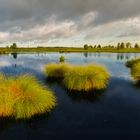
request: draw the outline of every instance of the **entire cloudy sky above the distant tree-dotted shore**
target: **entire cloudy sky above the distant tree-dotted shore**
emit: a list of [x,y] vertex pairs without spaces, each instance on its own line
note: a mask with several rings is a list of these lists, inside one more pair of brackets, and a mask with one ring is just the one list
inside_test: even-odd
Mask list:
[[140,42],[140,0],[0,0],[0,44]]

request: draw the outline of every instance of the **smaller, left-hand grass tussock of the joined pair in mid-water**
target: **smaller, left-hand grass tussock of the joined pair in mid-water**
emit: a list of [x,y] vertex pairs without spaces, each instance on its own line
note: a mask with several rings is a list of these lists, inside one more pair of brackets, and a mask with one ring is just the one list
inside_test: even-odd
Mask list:
[[64,78],[67,71],[71,69],[71,66],[66,63],[51,63],[46,65],[45,73],[49,78]]

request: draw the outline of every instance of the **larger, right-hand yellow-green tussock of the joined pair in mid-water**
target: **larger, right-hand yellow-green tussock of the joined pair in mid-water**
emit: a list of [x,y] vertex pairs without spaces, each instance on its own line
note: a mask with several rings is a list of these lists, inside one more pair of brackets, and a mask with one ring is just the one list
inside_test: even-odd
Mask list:
[[69,90],[90,91],[105,89],[109,80],[106,69],[98,65],[74,66],[65,74],[64,85]]

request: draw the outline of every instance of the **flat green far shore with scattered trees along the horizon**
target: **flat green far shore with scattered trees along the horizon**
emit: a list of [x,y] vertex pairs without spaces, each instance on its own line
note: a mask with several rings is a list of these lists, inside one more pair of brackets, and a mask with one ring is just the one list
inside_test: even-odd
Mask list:
[[127,43],[118,43],[114,45],[88,45],[85,44],[84,47],[20,47],[16,43],[13,43],[10,46],[0,48],[1,54],[9,53],[40,53],[40,52],[60,52],[60,53],[70,53],[70,52],[114,52],[114,53],[140,53],[140,45],[135,43],[132,45],[130,42]]

